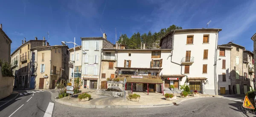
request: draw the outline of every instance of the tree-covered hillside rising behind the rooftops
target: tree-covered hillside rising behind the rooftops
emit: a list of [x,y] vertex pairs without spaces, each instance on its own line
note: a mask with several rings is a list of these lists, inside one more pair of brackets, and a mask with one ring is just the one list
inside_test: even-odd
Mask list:
[[122,34],[119,37],[119,43],[122,39],[122,44],[125,44],[128,49],[140,49],[141,42],[145,42],[146,49],[156,49],[160,48],[159,43],[160,39],[169,33],[172,30],[182,29],[177,25],[170,25],[169,28],[162,28],[159,32],[152,33],[149,31],[148,33],[140,34],[140,32],[134,33],[130,38],[126,34]]

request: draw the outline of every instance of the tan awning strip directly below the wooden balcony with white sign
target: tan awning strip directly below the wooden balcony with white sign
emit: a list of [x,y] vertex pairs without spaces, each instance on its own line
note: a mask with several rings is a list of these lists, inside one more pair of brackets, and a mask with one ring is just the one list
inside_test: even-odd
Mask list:
[[[125,78],[119,78],[120,81],[124,81]],[[143,78],[126,78],[126,82],[129,83],[149,83],[149,84],[163,84],[161,79],[143,79]]]

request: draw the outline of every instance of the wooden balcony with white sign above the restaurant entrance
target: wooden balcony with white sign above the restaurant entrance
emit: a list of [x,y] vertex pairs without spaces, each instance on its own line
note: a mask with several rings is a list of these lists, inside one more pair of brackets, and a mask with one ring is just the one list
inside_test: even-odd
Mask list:
[[117,75],[117,78],[142,78],[142,79],[160,79],[161,80],[161,76],[159,75],[128,75],[128,77],[126,77],[125,74],[121,74],[121,75]]

